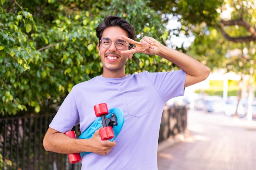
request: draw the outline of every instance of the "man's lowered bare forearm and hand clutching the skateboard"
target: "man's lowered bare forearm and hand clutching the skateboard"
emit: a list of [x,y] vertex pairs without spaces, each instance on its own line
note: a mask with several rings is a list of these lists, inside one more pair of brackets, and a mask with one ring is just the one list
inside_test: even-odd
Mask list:
[[94,133],[91,139],[75,139],[49,128],[43,139],[45,150],[63,154],[92,152],[106,155],[115,145],[115,142],[102,141],[99,130]]

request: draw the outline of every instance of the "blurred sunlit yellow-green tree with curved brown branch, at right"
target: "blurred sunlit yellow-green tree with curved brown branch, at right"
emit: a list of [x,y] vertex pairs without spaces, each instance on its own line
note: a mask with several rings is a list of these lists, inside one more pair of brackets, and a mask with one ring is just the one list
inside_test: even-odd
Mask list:
[[[218,22],[213,26],[202,23],[200,30],[206,31],[198,34],[191,46],[191,51],[203,57],[213,70],[222,68],[226,72],[235,72],[241,76],[241,83],[249,76],[244,87],[249,87],[246,91],[252,97],[256,83],[255,9],[253,0],[225,0],[225,4],[216,9]],[[238,103],[243,86],[239,87]]]

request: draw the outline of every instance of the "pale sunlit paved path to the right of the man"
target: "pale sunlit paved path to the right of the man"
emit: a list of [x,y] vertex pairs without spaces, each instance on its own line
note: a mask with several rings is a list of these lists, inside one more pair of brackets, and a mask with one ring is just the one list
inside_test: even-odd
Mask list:
[[158,170],[256,170],[256,121],[189,111],[187,129],[159,145]]

